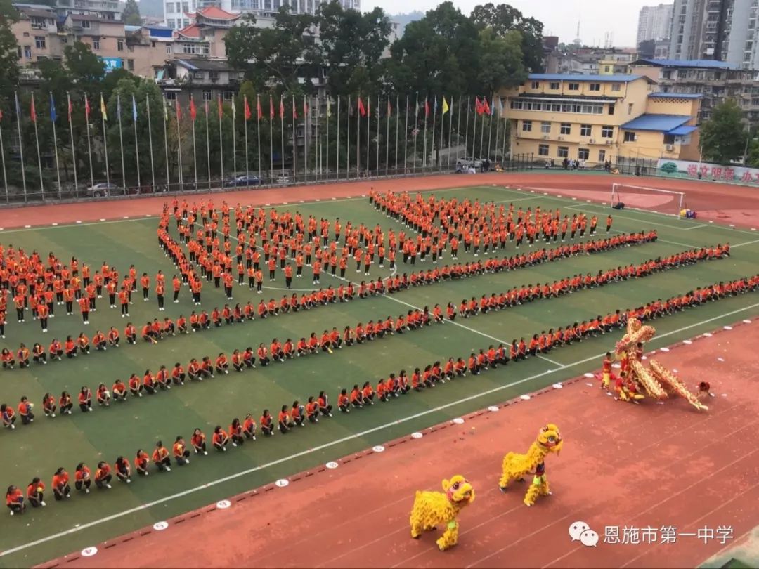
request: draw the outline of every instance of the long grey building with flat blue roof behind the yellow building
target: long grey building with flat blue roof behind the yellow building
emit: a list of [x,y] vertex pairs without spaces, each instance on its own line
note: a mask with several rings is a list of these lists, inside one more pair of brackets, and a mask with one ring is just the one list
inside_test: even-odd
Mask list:
[[631,73],[656,81],[664,93],[701,95],[699,122],[726,99],[735,99],[746,120],[759,121],[757,71],[724,61],[639,59],[631,64]]

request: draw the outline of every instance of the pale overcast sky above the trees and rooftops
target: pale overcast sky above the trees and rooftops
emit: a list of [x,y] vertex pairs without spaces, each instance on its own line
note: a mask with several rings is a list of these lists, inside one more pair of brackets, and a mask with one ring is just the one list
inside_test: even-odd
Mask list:
[[[465,14],[474,6],[487,0],[453,0]],[[490,0],[498,4],[497,0]],[[543,35],[559,36],[559,42],[572,42],[577,36],[580,21],[580,37],[586,45],[603,46],[606,32],[613,33],[616,47],[635,46],[638,31],[638,12],[646,5],[658,5],[652,0],[505,0],[522,14],[536,17],[543,22]],[[371,11],[375,6],[388,14],[427,11],[438,5],[438,0],[361,0],[361,10]]]

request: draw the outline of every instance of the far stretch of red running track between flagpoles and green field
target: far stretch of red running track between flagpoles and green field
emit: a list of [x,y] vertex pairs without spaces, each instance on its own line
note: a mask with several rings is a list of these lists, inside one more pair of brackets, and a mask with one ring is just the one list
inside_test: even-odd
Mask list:
[[[270,203],[297,204],[300,200],[331,200],[361,196],[370,188],[386,191],[440,190],[449,187],[498,184],[508,187],[537,188],[548,193],[564,193],[594,202],[608,201],[613,183],[657,187],[686,193],[687,205],[699,212],[699,218],[742,227],[759,227],[759,188],[716,184],[705,181],[670,180],[664,178],[635,178],[611,174],[546,174],[530,173],[446,174],[422,178],[393,178],[218,193],[192,193],[184,196],[189,202],[209,196],[215,203],[263,205]],[[179,196],[180,200],[183,196]],[[25,225],[50,225],[96,222],[124,216],[158,215],[163,203],[173,196],[134,197],[126,200],[90,200],[45,206],[25,206],[2,210],[0,228],[23,228]],[[656,209],[656,208],[652,208]],[[118,211],[118,215],[113,212]]]

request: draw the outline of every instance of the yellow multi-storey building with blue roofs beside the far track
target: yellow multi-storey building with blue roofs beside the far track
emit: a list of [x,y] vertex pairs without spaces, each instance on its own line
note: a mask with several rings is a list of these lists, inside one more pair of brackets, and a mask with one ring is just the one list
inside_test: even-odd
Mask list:
[[531,74],[499,94],[515,153],[586,165],[698,158],[701,97],[661,96],[642,75]]

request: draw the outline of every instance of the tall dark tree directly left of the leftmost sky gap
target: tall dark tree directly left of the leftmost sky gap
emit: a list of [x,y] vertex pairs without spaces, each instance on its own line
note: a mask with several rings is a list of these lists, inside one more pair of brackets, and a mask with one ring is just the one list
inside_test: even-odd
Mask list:
[[382,8],[361,14],[345,10],[338,0],[323,4],[319,14],[322,64],[329,69],[329,92],[377,93],[383,80],[382,56],[392,30]]

